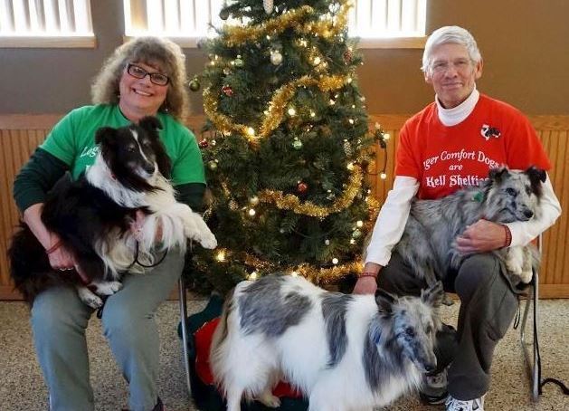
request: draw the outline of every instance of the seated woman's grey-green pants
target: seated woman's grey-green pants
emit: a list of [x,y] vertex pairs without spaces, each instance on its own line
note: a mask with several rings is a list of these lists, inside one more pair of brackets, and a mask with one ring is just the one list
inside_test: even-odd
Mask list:
[[[122,290],[105,303],[102,326],[128,381],[132,411],[156,405],[159,341],[154,316],[183,267],[184,256],[170,251],[152,271],[126,275]],[[33,301],[33,339],[52,411],[94,409],[85,339],[92,313],[69,287],[48,289]]]

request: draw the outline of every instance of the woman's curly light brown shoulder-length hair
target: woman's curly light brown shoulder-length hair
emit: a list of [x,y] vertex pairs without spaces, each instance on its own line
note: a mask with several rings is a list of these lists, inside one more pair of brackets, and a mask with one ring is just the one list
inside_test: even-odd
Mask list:
[[177,44],[160,37],[138,37],[120,45],[107,59],[91,86],[93,104],[119,104],[119,82],[128,62],[144,62],[170,79],[166,100],[158,109],[183,121],[189,110],[185,88],[185,55]]

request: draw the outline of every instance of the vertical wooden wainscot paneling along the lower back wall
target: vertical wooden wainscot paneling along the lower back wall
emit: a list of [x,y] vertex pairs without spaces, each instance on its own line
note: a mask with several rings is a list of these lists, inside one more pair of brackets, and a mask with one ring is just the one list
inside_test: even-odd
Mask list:
[[[19,299],[13,292],[7,272],[5,250],[18,223],[18,211],[12,199],[12,184],[15,174],[41,144],[49,130],[60,119],[60,115],[0,115],[0,299]],[[398,142],[399,129],[407,115],[372,115],[369,127],[375,122],[389,133],[387,141],[387,178],[371,175],[370,183],[374,195],[383,204],[394,181],[394,158]],[[564,213],[556,224],[544,234],[544,256],[541,265],[540,295],[545,298],[569,298],[569,253],[566,253],[567,234],[569,234],[569,116],[530,117],[544,143],[545,150],[554,165],[550,172],[555,193],[559,197]],[[187,124],[198,139],[204,124],[203,116],[193,116]],[[377,171],[381,172],[384,164],[384,151],[375,149]],[[375,171],[372,172],[375,174]]]

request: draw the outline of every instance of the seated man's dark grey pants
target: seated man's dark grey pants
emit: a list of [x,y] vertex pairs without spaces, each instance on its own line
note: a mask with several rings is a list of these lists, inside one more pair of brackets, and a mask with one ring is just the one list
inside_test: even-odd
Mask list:
[[[469,400],[482,397],[490,383],[490,365],[498,340],[504,337],[517,311],[517,293],[492,253],[467,258],[444,279],[447,292],[460,297],[458,330],[437,334],[439,365],[449,364],[449,393]],[[378,286],[398,295],[420,295],[427,284],[418,279],[397,253],[379,273]],[[456,335],[453,335],[456,334]]]

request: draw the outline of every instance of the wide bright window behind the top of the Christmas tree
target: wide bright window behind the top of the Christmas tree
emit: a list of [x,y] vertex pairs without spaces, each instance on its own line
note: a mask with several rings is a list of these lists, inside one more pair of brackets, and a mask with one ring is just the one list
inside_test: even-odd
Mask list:
[[[261,2],[261,0],[259,0]],[[353,0],[349,33],[363,48],[422,48],[427,0]],[[183,46],[214,35],[223,0],[124,0],[128,37],[164,35]]]

